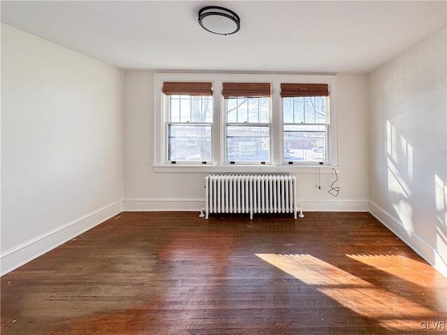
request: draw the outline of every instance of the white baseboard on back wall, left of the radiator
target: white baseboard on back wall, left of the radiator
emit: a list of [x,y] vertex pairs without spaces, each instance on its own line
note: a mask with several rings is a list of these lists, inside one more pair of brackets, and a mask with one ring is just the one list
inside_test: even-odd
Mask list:
[[205,199],[200,198],[128,198],[124,211],[200,211]]

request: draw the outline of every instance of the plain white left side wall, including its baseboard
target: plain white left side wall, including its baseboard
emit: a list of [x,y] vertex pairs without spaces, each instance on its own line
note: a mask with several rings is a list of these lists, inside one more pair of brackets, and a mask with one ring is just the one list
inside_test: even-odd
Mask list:
[[1,24],[1,272],[122,210],[122,70]]

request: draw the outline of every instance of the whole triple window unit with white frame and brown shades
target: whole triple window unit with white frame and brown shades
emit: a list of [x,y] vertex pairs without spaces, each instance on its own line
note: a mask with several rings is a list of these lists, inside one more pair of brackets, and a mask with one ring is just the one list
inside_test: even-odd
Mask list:
[[155,172],[332,173],[337,76],[156,73]]

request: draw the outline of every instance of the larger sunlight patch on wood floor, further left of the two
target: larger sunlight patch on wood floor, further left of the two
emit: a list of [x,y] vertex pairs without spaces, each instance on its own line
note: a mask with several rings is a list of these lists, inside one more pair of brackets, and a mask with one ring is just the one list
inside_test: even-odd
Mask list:
[[[430,318],[433,312],[414,301],[379,288],[312,255],[258,253],[258,258],[290,274],[342,306],[367,318],[381,320],[386,327],[400,327],[397,320]],[[381,323],[381,324],[382,324]],[[402,322],[403,328],[409,327]],[[399,328],[402,329],[402,328]]]

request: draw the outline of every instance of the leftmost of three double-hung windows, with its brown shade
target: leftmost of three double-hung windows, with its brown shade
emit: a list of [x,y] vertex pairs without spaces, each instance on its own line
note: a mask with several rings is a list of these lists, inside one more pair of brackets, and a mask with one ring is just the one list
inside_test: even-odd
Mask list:
[[212,161],[212,82],[164,82],[163,94],[168,162]]

